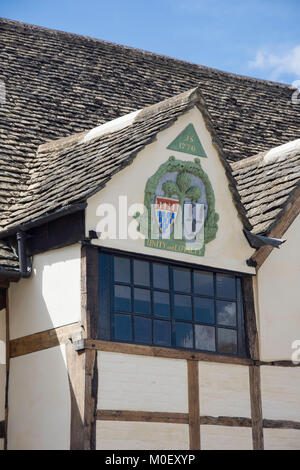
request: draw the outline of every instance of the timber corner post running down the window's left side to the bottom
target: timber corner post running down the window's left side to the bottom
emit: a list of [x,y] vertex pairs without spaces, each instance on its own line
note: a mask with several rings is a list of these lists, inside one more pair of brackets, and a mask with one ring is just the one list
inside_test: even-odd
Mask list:
[[[88,243],[81,247],[81,322],[82,340],[97,338],[98,248]],[[97,352],[66,346],[71,393],[71,450],[96,447]]]

